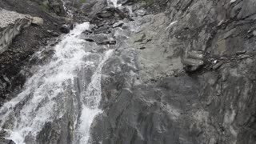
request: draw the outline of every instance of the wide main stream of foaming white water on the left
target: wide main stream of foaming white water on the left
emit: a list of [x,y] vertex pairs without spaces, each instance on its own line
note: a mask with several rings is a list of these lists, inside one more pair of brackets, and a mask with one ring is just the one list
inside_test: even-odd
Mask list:
[[[23,144],[27,135],[35,138],[46,122],[61,116],[62,110],[59,110],[56,99],[62,95],[66,86],[73,82],[76,71],[90,65],[82,60],[88,53],[83,50],[82,43],[85,41],[78,38],[83,30],[89,29],[89,25],[85,22],[75,26],[74,30],[55,46],[53,60],[27,80],[22,93],[2,106],[1,127],[15,114],[15,118],[12,118],[14,126],[6,128],[9,133],[7,139],[16,144]],[[20,104],[21,102],[25,104]]]

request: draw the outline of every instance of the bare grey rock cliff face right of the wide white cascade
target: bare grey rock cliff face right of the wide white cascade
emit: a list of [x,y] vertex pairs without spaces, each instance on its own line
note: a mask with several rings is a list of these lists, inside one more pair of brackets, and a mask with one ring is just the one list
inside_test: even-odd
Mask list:
[[[114,49],[102,66],[103,112],[90,126],[90,143],[254,144],[256,2],[118,4],[88,0],[75,8],[92,24],[80,36],[96,55],[88,59]],[[93,73],[78,72],[76,94]],[[74,140],[70,115],[79,117],[80,108],[70,105],[71,91],[61,101],[64,116],[47,122],[35,142]]]

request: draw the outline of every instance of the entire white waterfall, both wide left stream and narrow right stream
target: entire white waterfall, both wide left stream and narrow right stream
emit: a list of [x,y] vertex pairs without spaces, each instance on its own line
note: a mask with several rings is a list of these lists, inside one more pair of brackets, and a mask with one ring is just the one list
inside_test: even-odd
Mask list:
[[[89,26],[88,22],[75,26],[74,30],[55,46],[52,61],[42,66],[27,80],[22,93],[1,107],[0,126],[8,133],[7,139],[13,140],[16,144],[25,144],[25,139],[29,136],[35,141],[46,122],[62,118],[64,104],[60,102],[66,99],[66,90],[71,88],[72,94],[69,97],[75,97],[74,78],[78,76],[78,71],[86,66],[94,66],[94,62],[83,60],[91,53],[85,52],[85,41],[78,38],[84,30],[89,29]],[[98,109],[102,93],[101,70],[111,53],[112,50],[107,50],[106,54],[103,54],[89,86],[80,95],[82,114],[77,120],[78,130],[74,134],[77,142],[88,142],[90,125],[101,111]]]

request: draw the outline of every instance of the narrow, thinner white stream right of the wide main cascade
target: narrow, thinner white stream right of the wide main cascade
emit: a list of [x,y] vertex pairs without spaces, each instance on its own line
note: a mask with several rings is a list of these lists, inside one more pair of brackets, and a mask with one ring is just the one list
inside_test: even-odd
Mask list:
[[78,122],[74,144],[88,143],[90,138],[90,125],[95,116],[102,112],[102,110],[98,108],[102,98],[101,71],[103,64],[110,58],[112,53],[113,50],[106,51],[105,56],[102,58],[102,61],[99,63],[97,70],[95,70],[94,75],[91,78],[89,86],[81,94],[82,114]]

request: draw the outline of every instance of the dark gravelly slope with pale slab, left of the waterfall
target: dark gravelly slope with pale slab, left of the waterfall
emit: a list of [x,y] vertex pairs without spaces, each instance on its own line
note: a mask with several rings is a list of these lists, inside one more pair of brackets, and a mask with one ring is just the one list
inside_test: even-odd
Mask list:
[[[2,106],[4,99],[12,98],[10,92],[21,87],[26,81],[26,77],[29,74],[24,70],[26,67],[30,67],[31,56],[40,50],[41,46],[50,44],[48,42],[50,38],[58,36],[61,33],[59,28],[66,22],[65,18],[58,17],[57,14],[46,10],[42,3],[37,1],[0,1],[1,8],[3,10],[1,11],[0,27],[2,30],[0,32],[5,36],[6,40],[9,39],[6,42],[1,40],[1,45],[7,46],[11,41],[12,43],[5,50],[1,46],[0,106]],[[18,18],[20,19],[24,16],[29,19],[30,23],[33,17],[42,18],[43,23],[42,25],[30,25],[29,23],[22,30],[22,25],[18,25],[20,22],[17,21]],[[14,22],[16,22],[15,25]],[[15,31],[16,29],[12,29],[13,25],[14,28],[20,30]],[[7,30],[6,26],[9,26],[10,30]]]

